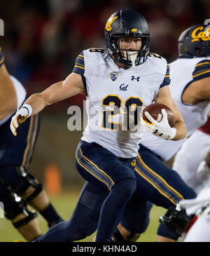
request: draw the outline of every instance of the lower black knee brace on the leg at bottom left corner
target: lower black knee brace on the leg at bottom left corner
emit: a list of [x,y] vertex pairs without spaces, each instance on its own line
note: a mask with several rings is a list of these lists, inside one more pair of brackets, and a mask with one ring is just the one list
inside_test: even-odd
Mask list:
[[27,209],[27,206],[24,201],[18,196],[17,194],[11,194],[12,202],[10,209],[6,208],[5,210],[5,217],[8,220],[13,220],[15,217],[23,213],[26,217],[22,220],[19,220],[18,222],[13,222],[14,227],[17,229],[18,227],[21,227],[24,224],[27,224],[30,220],[33,220],[37,217],[37,214],[34,212],[30,212]]

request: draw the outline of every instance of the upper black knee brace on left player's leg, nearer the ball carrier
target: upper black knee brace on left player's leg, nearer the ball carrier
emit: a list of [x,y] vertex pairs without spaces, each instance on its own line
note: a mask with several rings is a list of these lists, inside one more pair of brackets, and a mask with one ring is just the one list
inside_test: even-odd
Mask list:
[[30,196],[25,198],[25,201],[30,202],[39,193],[41,193],[41,191],[43,190],[43,186],[41,183],[36,183],[34,176],[27,173],[27,170],[25,170],[23,166],[17,167],[16,171],[18,173],[18,176],[24,179],[25,184],[23,184],[22,187],[20,187],[19,189],[15,190],[15,193],[21,195],[24,194],[29,187],[34,187],[35,191]]

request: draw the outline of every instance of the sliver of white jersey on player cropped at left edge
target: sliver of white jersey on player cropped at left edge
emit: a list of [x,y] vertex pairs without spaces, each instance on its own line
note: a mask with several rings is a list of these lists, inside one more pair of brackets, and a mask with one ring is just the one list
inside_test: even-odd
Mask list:
[[[18,104],[17,104],[17,109],[18,109],[21,107],[22,103],[24,102],[27,93],[26,93],[25,88],[20,83],[20,81],[15,79],[14,76],[10,76],[10,79],[12,79],[13,85],[15,87],[16,96],[17,96],[17,100],[18,100]],[[6,121],[8,121],[8,119],[10,119],[10,117],[13,116],[13,114],[14,113],[11,113],[8,116],[6,116],[5,119],[0,120],[0,126],[3,125],[3,123],[6,123]]]

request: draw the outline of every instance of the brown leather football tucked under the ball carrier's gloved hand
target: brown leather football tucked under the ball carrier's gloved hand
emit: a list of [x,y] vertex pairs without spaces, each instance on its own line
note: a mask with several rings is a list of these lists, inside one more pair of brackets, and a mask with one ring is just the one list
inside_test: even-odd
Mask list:
[[156,121],[160,122],[162,119],[162,112],[161,109],[165,109],[167,112],[167,116],[168,116],[168,121],[169,121],[169,125],[171,127],[174,126],[175,123],[175,117],[174,117],[174,113],[172,112],[171,109],[169,109],[169,107],[160,104],[160,103],[153,103],[151,105],[148,105],[144,111],[143,111],[143,119],[144,121],[147,121],[148,123],[151,123],[151,121],[148,120],[148,118],[145,115],[145,112],[148,112],[149,114],[151,114],[151,116],[153,116],[153,119],[155,119]]

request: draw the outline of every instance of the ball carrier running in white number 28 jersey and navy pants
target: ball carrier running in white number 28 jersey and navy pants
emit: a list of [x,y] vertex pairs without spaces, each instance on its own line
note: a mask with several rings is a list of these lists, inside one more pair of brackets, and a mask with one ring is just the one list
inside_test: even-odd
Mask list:
[[73,73],[31,95],[13,116],[10,128],[16,135],[20,123],[45,106],[78,93],[87,96],[87,128],[76,149],[76,167],[87,182],[71,220],[57,224],[36,241],[75,241],[96,229],[97,242],[110,241],[137,185],[134,167],[141,110],[155,97],[176,116],[174,128],[165,119],[153,125],[155,129],[170,140],[186,136],[186,126],[169,92],[167,62],[159,55],[148,55],[145,18],[130,10],[114,13],[106,22],[105,43],[106,52],[84,50]]

